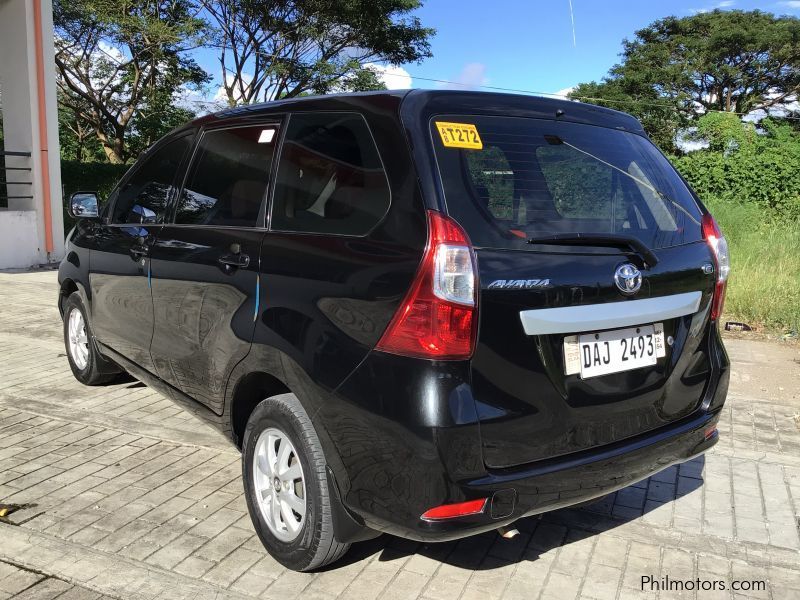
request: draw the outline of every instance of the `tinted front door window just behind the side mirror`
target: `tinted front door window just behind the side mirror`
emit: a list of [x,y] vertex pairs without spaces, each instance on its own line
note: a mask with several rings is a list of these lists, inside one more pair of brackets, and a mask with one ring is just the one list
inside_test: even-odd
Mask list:
[[116,195],[112,223],[163,223],[175,178],[192,136],[161,146],[136,168]]

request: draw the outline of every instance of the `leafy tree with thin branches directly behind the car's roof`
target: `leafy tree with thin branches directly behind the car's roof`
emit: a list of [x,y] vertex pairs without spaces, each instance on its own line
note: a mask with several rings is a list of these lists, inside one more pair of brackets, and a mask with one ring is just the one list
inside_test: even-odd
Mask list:
[[215,24],[228,103],[380,89],[369,63],[431,56],[419,0],[199,0]]

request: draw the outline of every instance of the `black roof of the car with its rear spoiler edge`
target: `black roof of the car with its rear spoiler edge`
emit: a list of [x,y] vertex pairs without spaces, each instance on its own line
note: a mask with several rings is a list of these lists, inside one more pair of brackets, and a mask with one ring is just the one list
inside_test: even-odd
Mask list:
[[195,119],[190,126],[201,126],[228,119],[248,119],[292,111],[359,112],[400,111],[403,119],[422,119],[435,114],[478,114],[559,119],[643,134],[633,116],[610,108],[574,100],[544,98],[522,94],[462,90],[380,90],[321,96],[302,96],[261,104],[227,108]]

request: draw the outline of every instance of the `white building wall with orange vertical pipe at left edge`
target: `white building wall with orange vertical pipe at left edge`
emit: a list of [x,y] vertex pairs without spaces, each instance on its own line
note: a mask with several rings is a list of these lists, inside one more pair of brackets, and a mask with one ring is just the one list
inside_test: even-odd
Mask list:
[[[43,155],[39,144],[34,2],[41,3],[42,7],[48,129],[46,155]],[[7,171],[7,180],[33,184],[10,185],[7,188],[10,196],[33,197],[10,199],[8,210],[0,210],[0,268],[26,267],[60,260],[64,255],[64,223],[51,0],[0,0],[0,89],[4,149],[31,153],[30,158],[6,157],[7,166],[31,167],[30,171]],[[53,232],[53,251],[50,254],[46,250],[42,194],[42,161],[45,156],[50,171]],[[22,215],[22,212],[32,214]]]

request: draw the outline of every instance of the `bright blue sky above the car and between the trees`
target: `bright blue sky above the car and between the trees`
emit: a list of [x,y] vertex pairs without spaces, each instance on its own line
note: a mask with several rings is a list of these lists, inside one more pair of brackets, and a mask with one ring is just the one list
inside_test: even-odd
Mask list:
[[[569,0],[428,0],[417,14],[437,30],[433,57],[403,65],[402,76],[387,84],[445,85],[423,79],[429,78],[463,87],[560,92],[602,78],[618,61],[622,39],[637,29],[667,15],[687,16],[717,7],[800,16],[800,0],[572,0],[573,44]],[[204,51],[197,59],[216,75],[218,86],[220,68],[214,53]]]

